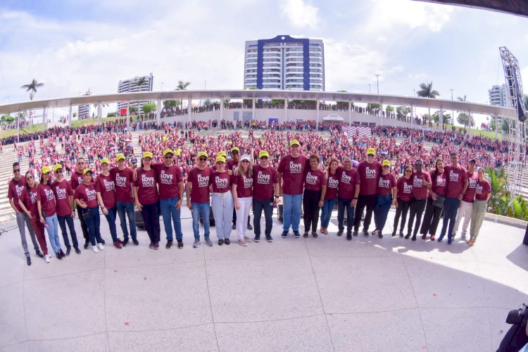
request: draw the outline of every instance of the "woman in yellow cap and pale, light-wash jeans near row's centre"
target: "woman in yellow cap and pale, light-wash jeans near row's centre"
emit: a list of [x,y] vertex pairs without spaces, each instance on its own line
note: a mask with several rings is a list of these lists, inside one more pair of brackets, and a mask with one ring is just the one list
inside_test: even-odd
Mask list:
[[215,217],[218,246],[230,244],[231,222],[233,220],[233,196],[231,194],[231,176],[225,170],[225,158],[216,158],[216,170],[209,179],[211,207]]

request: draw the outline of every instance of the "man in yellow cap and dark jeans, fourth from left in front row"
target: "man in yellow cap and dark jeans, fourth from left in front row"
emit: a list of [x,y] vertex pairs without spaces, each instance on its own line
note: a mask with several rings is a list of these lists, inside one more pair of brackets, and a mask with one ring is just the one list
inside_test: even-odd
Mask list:
[[70,240],[68,239],[68,232],[66,231],[66,224],[68,224],[70,236],[72,237],[73,249],[75,249],[75,253],[80,254],[81,251],[79,249],[79,242],[77,242],[77,233],[75,232],[75,226],[73,225],[73,218],[75,218],[73,190],[70,186],[70,182],[64,179],[63,165],[55,165],[54,172],[55,181],[51,184],[51,189],[53,189],[55,194],[57,220],[58,225],[61,226],[61,232],[66,246],[66,256],[69,256],[72,250]]

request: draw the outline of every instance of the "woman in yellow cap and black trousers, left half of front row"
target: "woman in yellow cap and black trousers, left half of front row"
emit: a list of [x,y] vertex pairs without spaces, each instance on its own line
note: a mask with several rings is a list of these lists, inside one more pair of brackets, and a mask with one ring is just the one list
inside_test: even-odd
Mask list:
[[137,210],[142,212],[146,233],[149,234],[150,249],[160,248],[160,208],[158,194],[158,175],[151,168],[152,153],[143,153],[141,168],[137,170],[134,182],[134,199]]

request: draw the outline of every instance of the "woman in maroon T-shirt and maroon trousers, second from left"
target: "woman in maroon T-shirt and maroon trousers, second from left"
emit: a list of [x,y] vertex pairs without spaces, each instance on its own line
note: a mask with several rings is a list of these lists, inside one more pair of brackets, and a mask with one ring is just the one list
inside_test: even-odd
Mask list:
[[48,247],[46,246],[46,236],[44,236],[44,225],[39,221],[39,215],[37,213],[37,193],[39,191],[38,184],[34,182],[33,172],[27,171],[25,173],[25,188],[20,194],[18,199],[18,205],[27,217],[30,218],[31,227],[34,231],[37,241],[39,241],[40,249],[44,253],[44,260],[49,263]]

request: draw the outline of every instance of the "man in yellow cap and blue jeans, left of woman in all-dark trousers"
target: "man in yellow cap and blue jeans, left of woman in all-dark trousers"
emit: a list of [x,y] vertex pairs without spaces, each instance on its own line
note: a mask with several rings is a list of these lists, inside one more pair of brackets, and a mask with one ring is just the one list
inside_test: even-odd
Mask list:
[[132,194],[132,187],[134,187],[134,172],[132,172],[131,168],[127,167],[126,159],[123,154],[118,154],[118,156],[115,157],[115,161],[117,161],[118,167],[112,168],[110,170],[110,175],[113,176],[113,181],[115,182],[115,206],[118,207],[118,215],[123,234],[121,245],[124,247],[128,244],[128,217],[130,237],[132,237],[132,242],[137,246],[139,241],[137,241],[134,194]]

